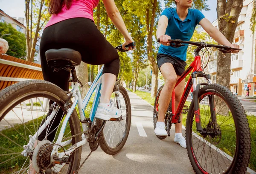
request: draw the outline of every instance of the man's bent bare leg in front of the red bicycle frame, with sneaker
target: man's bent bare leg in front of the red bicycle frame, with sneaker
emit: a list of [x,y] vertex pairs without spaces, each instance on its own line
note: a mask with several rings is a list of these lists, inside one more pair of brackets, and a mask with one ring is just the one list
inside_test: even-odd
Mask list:
[[165,84],[159,97],[157,127],[154,132],[156,133],[156,135],[159,136],[167,136],[167,132],[164,128],[164,116],[171,101],[172,90],[174,89],[177,82],[177,75],[171,63],[163,64],[160,67],[160,71],[165,80]]

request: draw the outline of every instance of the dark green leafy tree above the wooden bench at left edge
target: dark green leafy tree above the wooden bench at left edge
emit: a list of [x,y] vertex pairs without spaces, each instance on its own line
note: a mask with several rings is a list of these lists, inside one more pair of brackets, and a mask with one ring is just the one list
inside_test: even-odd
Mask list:
[[9,44],[9,49],[6,52],[7,55],[15,58],[25,59],[26,56],[26,38],[21,32],[18,32],[12,25],[6,23],[0,23],[0,36],[4,34],[11,34],[3,36]]

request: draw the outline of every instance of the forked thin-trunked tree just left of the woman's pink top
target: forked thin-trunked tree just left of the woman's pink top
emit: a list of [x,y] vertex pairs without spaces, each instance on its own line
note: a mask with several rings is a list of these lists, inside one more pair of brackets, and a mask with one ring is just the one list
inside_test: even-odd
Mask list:
[[25,0],[26,17],[26,59],[34,61],[38,35],[49,20],[45,0]]

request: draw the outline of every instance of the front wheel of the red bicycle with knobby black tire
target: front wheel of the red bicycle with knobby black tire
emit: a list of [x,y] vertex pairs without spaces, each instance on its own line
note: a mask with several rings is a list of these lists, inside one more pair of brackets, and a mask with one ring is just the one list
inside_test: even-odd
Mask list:
[[187,152],[195,172],[245,173],[250,159],[250,130],[241,103],[219,84],[201,88],[198,99],[201,125],[207,133],[196,129],[193,102],[186,119]]

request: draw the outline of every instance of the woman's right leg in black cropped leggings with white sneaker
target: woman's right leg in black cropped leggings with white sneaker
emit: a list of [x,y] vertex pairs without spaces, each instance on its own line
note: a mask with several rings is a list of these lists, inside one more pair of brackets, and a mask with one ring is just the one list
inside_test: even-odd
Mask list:
[[[93,65],[104,64],[100,106],[95,117],[100,118],[98,116],[101,115],[104,118],[100,119],[105,120],[118,118],[121,111],[110,103],[110,97],[119,73],[120,60],[116,49],[97,29],[94,22],[87,18],[72,18],[57,23],[55,37],[59,43],[67,43],[67,48],[80,52],[83,62]],[[99,108],[105,110],[99,112]]]

